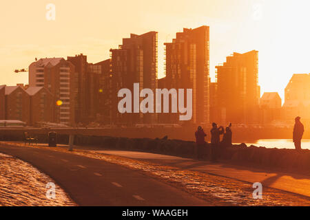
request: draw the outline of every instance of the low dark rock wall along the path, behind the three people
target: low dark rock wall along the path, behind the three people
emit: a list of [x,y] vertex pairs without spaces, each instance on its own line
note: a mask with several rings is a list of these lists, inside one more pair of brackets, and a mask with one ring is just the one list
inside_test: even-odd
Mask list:
[[[39,142],[48,142],[46,134],[37,134]],[[23,141],[23,133],[0,135],[0,140]],[[68,135],[57,135],[59,144],[68,144]],[[74,144],[81,146],[102,146],[127,151],[144,151],[180,157],[195,157],[196,143],[183,140],[164,140],[150,138],[128,138],[75,135]],[[210,144],[205,145],[203,158],[209,159]],[[257,168],[278,168],[284,172],[302,173],[310,175],[310,150],[304,149],[298,153],[294,149],[265,148],[247,146],[246,144],[234,145],[218,152],[218,159],[230,164],[254,166]]]

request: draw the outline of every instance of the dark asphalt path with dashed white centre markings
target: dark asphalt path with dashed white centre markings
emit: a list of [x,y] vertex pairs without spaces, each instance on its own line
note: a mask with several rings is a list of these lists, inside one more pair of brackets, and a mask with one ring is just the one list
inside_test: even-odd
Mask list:
[[101,159],[4,144],[0,144],[0,152],[39,168],[80,206],[212,205],[137,171]]

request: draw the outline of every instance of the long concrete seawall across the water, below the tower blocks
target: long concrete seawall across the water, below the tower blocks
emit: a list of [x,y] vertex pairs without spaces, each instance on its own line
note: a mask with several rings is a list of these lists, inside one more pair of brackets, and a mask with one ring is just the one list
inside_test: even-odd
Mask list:
[[[305,126],[304,139],[310,139],[310,130]],[[16,136],[23,137],[23,132],[28,131],[33,135],[48,134],[48,131],[56,131],[59,135],[96,135],[96,136],[110,136],[110,137],[130,137],[130,138],[156,138],[164,137],[167,135],[169,139],[180,139],[194,141],[194,133],[196,126],[185,126],[183,128],[167,128],[167,127],[154,127],[154,128],[56,128],[56,129],[40,129],[40,128],[0,128],[0,139],[3,136]],[[207,141],[210,141],[210,129],[205,127],[207,133]],[[251,142],[260,139],[291,139],[293,137],[293,128],[275,128],[265,126],[262,128],[241,128],[233,127],[233,142]]]

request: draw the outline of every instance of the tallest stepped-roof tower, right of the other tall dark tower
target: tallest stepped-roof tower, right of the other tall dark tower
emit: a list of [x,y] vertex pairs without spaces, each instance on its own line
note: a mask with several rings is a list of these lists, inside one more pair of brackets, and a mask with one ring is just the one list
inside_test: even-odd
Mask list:
[[[209,122],[209,27],[184,28],[165,43],[167,88],[193,89],[193,123]],[[171,122],[178,115],[171,114]]]

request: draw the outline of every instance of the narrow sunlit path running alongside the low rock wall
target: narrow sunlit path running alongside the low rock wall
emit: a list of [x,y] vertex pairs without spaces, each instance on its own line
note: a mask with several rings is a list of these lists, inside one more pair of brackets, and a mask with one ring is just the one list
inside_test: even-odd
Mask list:
[[158,155],[154,153],[142,153],[134,151],[96,151],[98,153],[130,157],[133,159],[143,159],[157,164],[176,166],[180,169],[198,170],[200,172],[212,173],[224,177],[230,177],[247,181],[250,183],[260,182],[263,186],[269,186],[288,192],[310,197],[310,176],[297,175],[292,173],[266,172],[245,166],[234,166],[229,164],[211,164],[200,162],[194,159],[183,157],[173,157],[169,155]]

